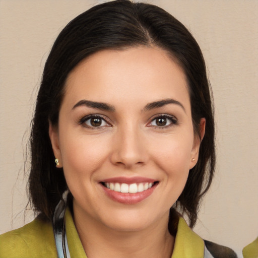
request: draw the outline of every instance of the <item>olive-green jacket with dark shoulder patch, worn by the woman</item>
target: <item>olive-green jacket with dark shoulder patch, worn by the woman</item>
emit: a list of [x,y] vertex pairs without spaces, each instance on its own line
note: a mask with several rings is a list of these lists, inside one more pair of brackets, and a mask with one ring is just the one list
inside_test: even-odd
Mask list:
[[[66,211],[66,231],[71,258],[87,258],[77,233],[71,212]],[[36,218],[22,228],[0,235],[1,258],[56,258],[51,222]],[[171,258],[234,258],[228,247],[203,240],[193,232],[183,218],[179,218]]]

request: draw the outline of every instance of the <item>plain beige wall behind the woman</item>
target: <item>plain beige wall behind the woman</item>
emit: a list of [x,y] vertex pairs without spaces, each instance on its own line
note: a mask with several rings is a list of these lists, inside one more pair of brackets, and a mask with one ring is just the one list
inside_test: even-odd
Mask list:
[[[0,233],[24,224],[23,153],[50,47],[64,25],[100,2],[0,0]],[[184,23],[207,61],[218,165],[195,231],[240,254],[258,236],[258,1],[149,3]]]

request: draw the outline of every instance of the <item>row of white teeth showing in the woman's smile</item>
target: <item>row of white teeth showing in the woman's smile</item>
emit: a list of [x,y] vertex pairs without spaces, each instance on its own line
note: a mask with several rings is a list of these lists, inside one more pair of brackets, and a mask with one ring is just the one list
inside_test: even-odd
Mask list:
[[142,182],[142,183],[118,183],[118,182],[101,182],[106,188],[123,193],[137,193],[150,189],[153,185],[157,184],[158,181],[155,182]]

